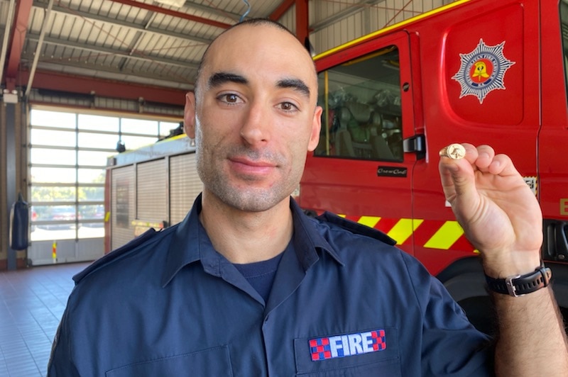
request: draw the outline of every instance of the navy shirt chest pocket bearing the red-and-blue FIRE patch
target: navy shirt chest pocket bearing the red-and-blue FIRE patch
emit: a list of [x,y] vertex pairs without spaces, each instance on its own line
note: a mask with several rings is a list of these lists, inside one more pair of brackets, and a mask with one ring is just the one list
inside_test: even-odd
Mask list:
[[394,327],[294,339],[294,352],[296,376],[401,376]]

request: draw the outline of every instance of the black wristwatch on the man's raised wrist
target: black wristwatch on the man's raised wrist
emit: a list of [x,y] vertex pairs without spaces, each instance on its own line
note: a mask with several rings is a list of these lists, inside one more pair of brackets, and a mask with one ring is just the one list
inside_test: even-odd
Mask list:
[[491,291],[513,297],[523,296],[548,286],[552,278],[550,268],[540,266],[535,271],[525,275],[509,276],[508,278],[491,278],[485,276],[487,286]]

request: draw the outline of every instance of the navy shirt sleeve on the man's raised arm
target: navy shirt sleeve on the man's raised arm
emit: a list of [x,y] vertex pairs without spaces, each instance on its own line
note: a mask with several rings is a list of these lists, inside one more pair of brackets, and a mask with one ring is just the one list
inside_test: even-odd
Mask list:
[[403,253],[422,310],[422,376],[494,376],[491,339],[471,325],[443,284]]

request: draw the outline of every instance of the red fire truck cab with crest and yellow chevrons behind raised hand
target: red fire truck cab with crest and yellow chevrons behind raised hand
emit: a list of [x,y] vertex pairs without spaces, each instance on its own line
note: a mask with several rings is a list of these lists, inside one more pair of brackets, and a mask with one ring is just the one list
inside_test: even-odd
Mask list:
[[452,142],[489,144],[513,158],[540,201],[542,258],[566,316],[568,2],[457,1],[315,61],[322,133],[300,206],[386,232],[483,320],[484,274],[437,164]]

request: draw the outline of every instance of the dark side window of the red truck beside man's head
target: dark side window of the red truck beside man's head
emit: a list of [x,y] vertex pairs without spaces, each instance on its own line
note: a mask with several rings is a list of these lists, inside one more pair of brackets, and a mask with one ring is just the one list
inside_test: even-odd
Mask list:
[[324,111],[315,156],[403,160],[395,46],[320,72],[318,80]]

